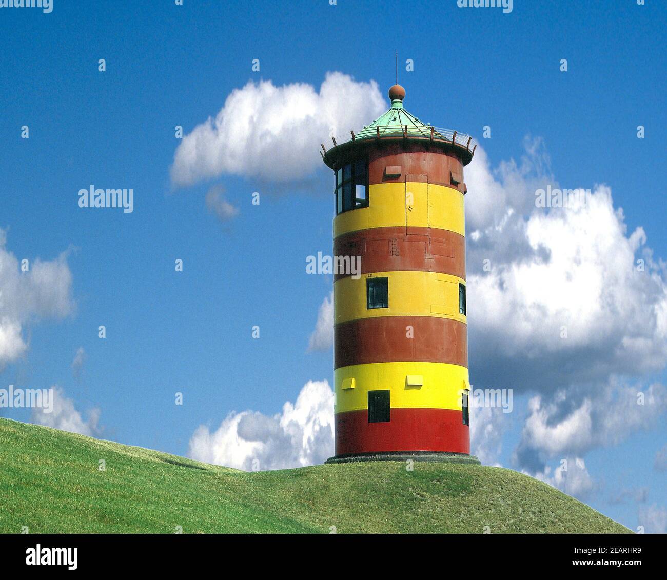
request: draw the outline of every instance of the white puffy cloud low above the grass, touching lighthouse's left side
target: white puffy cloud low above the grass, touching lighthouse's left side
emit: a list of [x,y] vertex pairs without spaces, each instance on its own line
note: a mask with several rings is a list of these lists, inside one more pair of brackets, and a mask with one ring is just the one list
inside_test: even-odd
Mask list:
[[327,381],[308,381],[296,402],[272,417],[243,411],[229,413],[212,432],[200,425],[188,455],[245,471],[323,463],[333,455],[333,391]]

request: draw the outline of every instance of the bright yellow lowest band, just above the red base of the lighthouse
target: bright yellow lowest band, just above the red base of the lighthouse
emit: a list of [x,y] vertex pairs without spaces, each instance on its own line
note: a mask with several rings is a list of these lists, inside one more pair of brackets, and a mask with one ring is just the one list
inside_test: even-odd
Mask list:
[[[408,375],[420,375],[421,387],[409,387]],[[336,413],[368,409],[368,391],[391,391],[392,409],[461,410],[461,391],[470,389],[468,369],[446,363],[372,363],[333,372]],[[354,379],[353,389],[343,389]]]

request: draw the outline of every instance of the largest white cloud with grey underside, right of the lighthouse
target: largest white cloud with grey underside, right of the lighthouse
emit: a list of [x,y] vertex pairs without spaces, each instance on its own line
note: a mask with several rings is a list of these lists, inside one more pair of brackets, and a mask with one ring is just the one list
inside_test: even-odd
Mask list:
[[[539,209],[540,179],[503,167],[497,181],[482,157],[466,176],[486,188],[469,185],[466,199],[477,227],[467,261],[471,369],[484,371],[477,382],[555,389],[664,368],[667,284],[644,259],[652,252],[642,228],[628,233],[610,188],[594,187],[585,204]],[[509,190],[524,193],[529,215]],[[489,213],[496,195],[506,205]]]

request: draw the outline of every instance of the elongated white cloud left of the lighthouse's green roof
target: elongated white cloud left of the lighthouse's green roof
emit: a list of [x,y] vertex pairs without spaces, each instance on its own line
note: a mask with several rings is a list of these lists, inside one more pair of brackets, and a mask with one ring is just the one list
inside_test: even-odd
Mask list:
[[235,89],[215,115],[185,135],[171,166],[177,186],[231,174],[298,181],[321,167],[319,144],[360,129],[388,107],[375,81],[327,73],[319,87],[271,81]]

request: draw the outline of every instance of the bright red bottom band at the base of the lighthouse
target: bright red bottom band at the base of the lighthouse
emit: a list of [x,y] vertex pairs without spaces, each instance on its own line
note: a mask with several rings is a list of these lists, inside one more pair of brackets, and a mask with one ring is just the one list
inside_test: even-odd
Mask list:
[[368,423],[368,411],[336,414],[336,455],[383,451],[470,454],[470,429],[452,409],[392,409],[388,423]]

